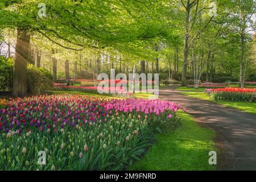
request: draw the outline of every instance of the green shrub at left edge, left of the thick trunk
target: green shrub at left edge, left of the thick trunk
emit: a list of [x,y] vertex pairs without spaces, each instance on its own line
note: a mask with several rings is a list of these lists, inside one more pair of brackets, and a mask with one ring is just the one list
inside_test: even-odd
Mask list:
[[0,91],[13,89],[13,60],[0,56]]

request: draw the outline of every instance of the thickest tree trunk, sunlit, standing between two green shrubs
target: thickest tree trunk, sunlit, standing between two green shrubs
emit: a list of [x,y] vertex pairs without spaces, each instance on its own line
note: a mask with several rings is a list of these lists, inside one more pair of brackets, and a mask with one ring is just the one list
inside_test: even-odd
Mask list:
[[27,94],[27,62],[30,57],[30,35],[26,30],[17,30],[15,47],[13,96],[20,97]]

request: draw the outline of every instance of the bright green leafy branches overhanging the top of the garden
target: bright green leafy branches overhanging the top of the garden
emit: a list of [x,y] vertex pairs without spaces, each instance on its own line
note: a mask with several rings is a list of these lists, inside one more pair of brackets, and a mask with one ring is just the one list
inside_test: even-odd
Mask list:
[[[65,3],[47,0],[44,1],[47,16],[43,19],[37,15],[41,1],[14,2],[16,4],[9,10],[13,15],[8,14],[15,26],[37,31],[53,43],[73,50],[115,47],[130,52],[137,46],[127,48],[124,44],[135,45],[141,41],[152,41],[158,36],[168,39],[175,36],[170,31],[173,29],[172,23],[166,21],[168,17],[164,17],[170,11],[159,6],[164,3],[159,0]],[[17,14],[12,9],[17,9]],[[72,48],[61,45],[59,39],[73,45]]]

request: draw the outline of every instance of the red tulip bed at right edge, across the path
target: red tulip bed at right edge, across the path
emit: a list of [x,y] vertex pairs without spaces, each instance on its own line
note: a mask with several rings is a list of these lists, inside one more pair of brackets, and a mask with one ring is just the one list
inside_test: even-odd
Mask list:
[[256,89],[250,88],[220,88],[205,89],[213,100],[256,102]]

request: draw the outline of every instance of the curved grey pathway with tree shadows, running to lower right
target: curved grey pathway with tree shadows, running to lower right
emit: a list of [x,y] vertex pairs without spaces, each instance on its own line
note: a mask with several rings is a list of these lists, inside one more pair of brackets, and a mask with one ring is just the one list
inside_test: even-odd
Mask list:
[[175,87],[159,89],[159,97],[187,108],[197,122],[217,133],[220,170],[256,170],[256,116],[179,94]]

